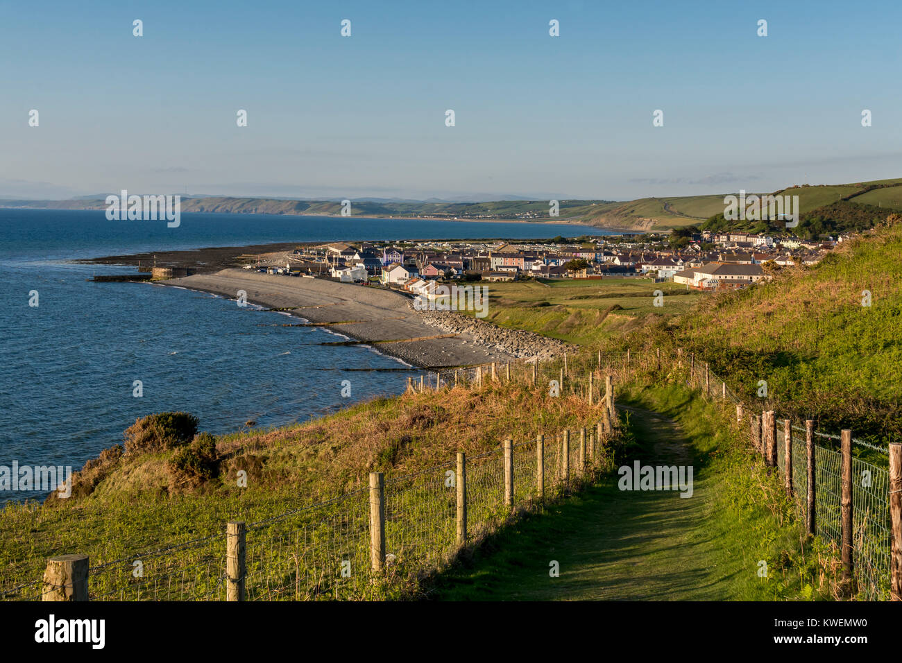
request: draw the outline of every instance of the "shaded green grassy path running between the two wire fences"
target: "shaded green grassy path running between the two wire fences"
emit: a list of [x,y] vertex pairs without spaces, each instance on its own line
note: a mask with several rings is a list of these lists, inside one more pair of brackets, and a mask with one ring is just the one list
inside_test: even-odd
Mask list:
[[[623,407],[639,442],[628,460],[695,465],[691,498],[678,492],[621,491],[617,476],[544,514],[529,516],[465,566],[439,578],[446,600],[726,600],[737,569],[708,527],[712,480],[679,426]],[[557,560],[559,577],[549,576]]]

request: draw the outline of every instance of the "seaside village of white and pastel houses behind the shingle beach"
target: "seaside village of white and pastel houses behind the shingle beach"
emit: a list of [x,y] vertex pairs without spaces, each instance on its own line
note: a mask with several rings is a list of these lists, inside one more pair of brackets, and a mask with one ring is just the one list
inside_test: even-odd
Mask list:
[[[537,241],[364,242],[301,246],[260,256],[245,269],[380,283],[428,294],[437,281],[651,278],[691,290],[724,290],[767,281],[779,267],[814,265],[848,239],[824,241],[747,233],[703,232],[678,249],[669,235],[584,238],[579,244]],[[430,285],[431,284],[431,285]]]

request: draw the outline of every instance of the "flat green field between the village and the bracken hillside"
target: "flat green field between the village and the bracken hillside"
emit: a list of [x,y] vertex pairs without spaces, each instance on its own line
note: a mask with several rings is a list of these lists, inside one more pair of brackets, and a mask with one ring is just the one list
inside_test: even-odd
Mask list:
[[[513,281],[487,287],[488,322],[576,345],[599,345],[646,323],[679,316],[704,297],[686,286],[651,279]],[[664,294],[661,307],[654,305],[655,290]]]

